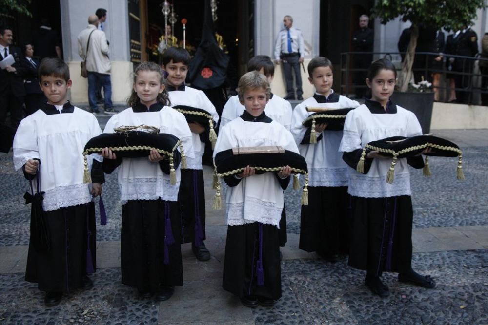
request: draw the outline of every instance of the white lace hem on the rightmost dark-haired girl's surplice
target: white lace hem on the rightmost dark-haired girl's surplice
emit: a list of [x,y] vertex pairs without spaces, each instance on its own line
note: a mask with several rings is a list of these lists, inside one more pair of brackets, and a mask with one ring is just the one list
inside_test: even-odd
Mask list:
[[359,197],[411,195],[410,174],[395,173],[393,184],[388,184],[386,183],[386,175],[373,177],[354,172],[350,175],[348,192]]

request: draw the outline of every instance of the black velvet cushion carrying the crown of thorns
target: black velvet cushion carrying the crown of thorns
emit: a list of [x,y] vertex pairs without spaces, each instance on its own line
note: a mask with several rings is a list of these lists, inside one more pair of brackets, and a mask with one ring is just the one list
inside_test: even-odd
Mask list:
[[[121,133],[102,133],[91,138],[85,145],[83,154],[101,153],[105,147],[110,148],[120,158],[147,157],[152,149],[162,155],[177,156],[179,139],[166,133],[154,134],[143,131],[128,131]],[[180,159],[174,159],[175,162]],[[175,166],[176,169],[177,166]]]

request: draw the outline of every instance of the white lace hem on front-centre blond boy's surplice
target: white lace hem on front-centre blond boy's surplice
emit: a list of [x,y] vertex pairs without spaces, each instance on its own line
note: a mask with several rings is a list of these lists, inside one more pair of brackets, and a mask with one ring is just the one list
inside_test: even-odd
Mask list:
[[283,206],[278,207],[274,202],[265,202],[249,197],[245,202],[229,203],[227,210],[227,225],[237,226],[245,223],[261,222],[280,228]]

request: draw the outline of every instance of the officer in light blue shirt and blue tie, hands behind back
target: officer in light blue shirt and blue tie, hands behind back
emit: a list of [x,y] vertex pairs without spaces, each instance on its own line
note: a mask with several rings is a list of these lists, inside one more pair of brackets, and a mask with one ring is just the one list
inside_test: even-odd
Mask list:
[[283,72],[285,73],[286,92],[284,97],[287,100],[295,99],[293,90],[293,77],[291,69],[295,71],[295,84],[297,86],[297,99],[303,100],[302,76],[300,74],[300,64],[304,61],[305,44],[302,31],[293,27],[293,18],[285,16],[283,18],[285,29],[281,30],[276,38],[275,59],[278,64],[283,62]]

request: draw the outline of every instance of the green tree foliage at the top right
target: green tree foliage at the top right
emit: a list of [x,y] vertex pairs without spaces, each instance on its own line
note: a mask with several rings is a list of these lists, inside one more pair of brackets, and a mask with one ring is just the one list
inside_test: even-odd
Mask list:
[[477,9],[487,7],[486,0],[377,0],[373,16],[381,23],[401,17],[418,26],[460,30],[476,19]]

